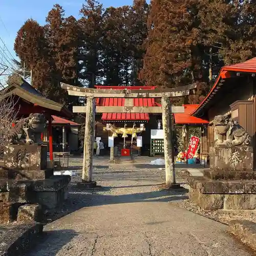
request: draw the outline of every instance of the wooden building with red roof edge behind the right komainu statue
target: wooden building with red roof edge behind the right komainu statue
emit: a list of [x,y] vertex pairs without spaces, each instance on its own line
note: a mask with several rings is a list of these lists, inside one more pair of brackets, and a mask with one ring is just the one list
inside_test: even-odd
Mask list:
[[221,68],[204,100],[190,113],[209,121],[206,129],[207,148],[214,146],[216,134],[213,120],[226,115],[239,124],[252,138],[254,170],[256,169],[256,57],[236,65]]

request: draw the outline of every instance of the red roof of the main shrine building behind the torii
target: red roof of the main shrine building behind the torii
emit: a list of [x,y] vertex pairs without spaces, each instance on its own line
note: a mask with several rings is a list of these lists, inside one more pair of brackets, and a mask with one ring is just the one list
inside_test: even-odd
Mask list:
[[[154,90],[155,86],[95,86],[97,89]],[[124,98],[96,98],[98,106],[124,106]],[[133,98],[134,106],[159,106],[154,98]],[[148,113],[102,113],[102,120],[150,120]]]

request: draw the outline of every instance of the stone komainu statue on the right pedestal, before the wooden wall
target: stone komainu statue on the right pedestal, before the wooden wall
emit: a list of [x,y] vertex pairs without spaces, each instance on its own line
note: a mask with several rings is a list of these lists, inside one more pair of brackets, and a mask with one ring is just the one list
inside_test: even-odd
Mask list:
[[[230,117],[219,115],[214,118],[214,131],[217,135],[215,145],[249,145],[251,142],[250,135],[244,128]],[[224,140],[224,136],[226,139]]]

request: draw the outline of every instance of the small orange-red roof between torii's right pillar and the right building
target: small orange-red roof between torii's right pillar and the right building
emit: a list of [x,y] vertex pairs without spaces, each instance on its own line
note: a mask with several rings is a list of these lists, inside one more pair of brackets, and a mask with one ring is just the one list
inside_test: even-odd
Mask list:
[[195,111],[199,104],[184,104],[184,113],[175,113],[175,123],[176,124],[207,124],[207,120],[191,116],[190,114]]

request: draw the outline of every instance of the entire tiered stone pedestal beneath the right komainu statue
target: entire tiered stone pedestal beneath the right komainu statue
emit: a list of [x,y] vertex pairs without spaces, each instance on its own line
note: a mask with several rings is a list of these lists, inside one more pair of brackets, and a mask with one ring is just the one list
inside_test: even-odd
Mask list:
[[251,146],[210,148],[210,169],[188,178],[189,199],[202,209],[256,209]]

